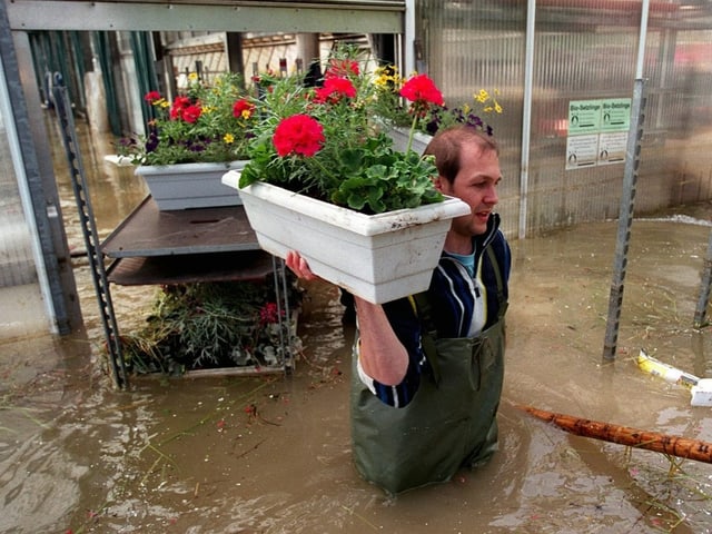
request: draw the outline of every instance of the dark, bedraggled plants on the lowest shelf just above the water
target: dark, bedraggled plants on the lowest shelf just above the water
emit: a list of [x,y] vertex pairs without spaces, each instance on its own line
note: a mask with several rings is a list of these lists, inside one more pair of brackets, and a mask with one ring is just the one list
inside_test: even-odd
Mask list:
[[[299,294],[293,289],[288,298],[298,303]],[[127,368],[181,375],[276,366],[286,358],[283,340],[294,340],[293,322],[284,313],[268,280],[165,286],[146,326],[122,337]]]

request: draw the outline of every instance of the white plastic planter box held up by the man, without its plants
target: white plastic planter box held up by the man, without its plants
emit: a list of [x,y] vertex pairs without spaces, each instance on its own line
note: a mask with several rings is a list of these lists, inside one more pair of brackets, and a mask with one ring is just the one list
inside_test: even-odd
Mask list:
[[[222,182],[237,189],[239,176]],[[316,275],[376,304],[427,289],[451,219],[471,212],[456,198],[369,216],[263,182],[239,191],[263,249],[297,250]]]

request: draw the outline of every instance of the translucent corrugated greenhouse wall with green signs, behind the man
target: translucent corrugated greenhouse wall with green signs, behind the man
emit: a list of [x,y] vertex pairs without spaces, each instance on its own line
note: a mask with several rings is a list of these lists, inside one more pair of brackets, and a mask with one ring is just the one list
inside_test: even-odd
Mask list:
[[[444,88],[447,102],[498,90],[503,112],[485,118],[502,146],[500,211],[506,233],[523,237],[617,217],[624,158],[600,156],[604,147],[620,151],[622,136],[606,134],[601,123],[601,130],[580,137],[570,110],[575,102],[631,99],[641,39],[646,103],[635,214],[709,199],[710,3],[652,2],[642,28],[643,2],[531,3],[536,11],[527,66],[526,2],[416,2],[418,70]],[[576,165],[572,154],[580,156]]]

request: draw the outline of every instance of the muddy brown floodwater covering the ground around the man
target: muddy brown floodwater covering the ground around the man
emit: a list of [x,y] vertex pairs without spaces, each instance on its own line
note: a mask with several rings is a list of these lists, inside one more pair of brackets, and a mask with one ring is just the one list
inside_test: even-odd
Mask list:
[[[108,233],[145,191],[129,169],[91,161]],[[572,436],[517,407],[712,442],[712,408],[690,406],[685,389],[634,363],[645,348],[712,377],[712,332],[692,327],[711,215],[704,205],[634,221],[609,364],[616,222],[512,243],[501,451],[479,471],[397,498],[352,465],[353,327],[334,287],[306,286],[291,376],[144,378],[119,392],[78,261],[87,332],[0,345],[0,532],[712,532],[712,465]],[[142,320],[152,291],[115,288],[120,328]]]

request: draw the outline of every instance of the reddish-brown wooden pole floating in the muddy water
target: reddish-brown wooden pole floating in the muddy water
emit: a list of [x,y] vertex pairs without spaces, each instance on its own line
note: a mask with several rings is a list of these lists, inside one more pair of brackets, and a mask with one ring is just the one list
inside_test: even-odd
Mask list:
[[629,447],[645,448],[656,453],[712,464],[712,443],[671,436],[659,432],[641,431],[612,423],[583,419],[573,415],[555,414],[532,406],[517,405],[516,407],[542,421],[553,423],[561,429],[576,436],[593,437],[594,439],[603,439],[627,445]]

